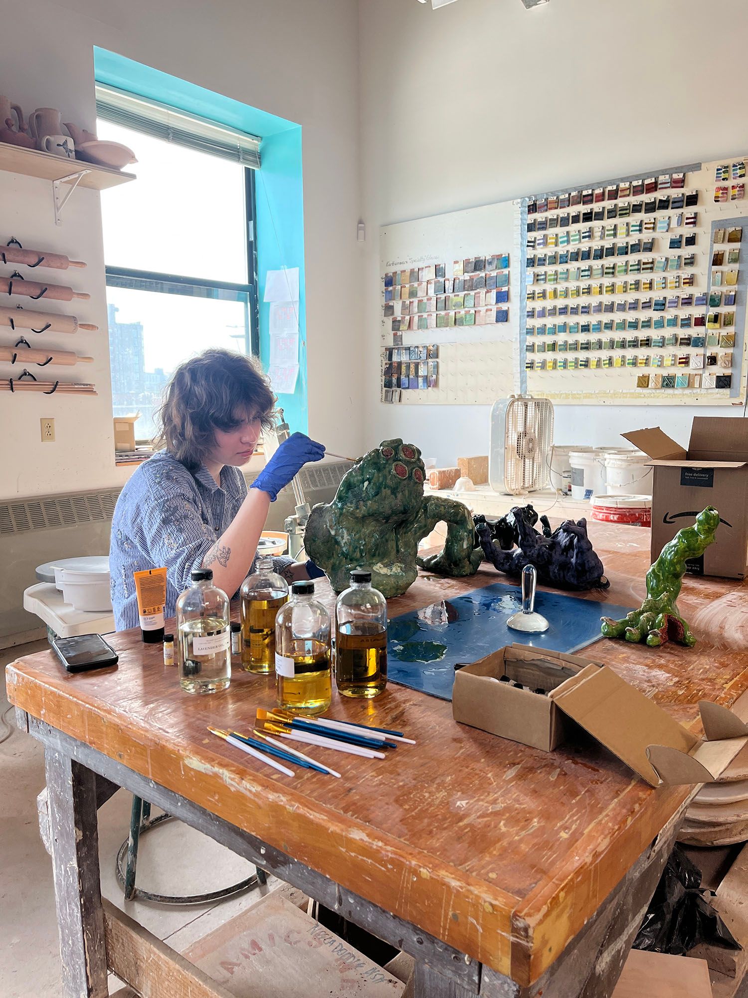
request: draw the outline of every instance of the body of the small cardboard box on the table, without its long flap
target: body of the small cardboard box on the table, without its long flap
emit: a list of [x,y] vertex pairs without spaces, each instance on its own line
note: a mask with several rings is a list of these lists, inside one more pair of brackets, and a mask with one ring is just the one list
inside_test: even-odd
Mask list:
[[[452,716],[463,725],[553,751],[566,741],[571,725],[549,697],[534,691],[555,690],[588,665],[589,659],[527,645],[500,648],[455,674]],[[502,677],[530,689],[518,690]]]

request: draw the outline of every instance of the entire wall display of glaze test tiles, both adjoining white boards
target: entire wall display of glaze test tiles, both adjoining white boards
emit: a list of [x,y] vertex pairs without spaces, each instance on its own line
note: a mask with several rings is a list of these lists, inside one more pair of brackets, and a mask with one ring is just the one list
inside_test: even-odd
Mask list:
[[747,159],[384,227],[382,401],[742,405]]

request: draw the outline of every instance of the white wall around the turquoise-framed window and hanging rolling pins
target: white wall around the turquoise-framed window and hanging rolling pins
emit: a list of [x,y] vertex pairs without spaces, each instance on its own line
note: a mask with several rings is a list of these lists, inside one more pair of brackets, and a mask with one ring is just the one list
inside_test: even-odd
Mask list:
[[[309,430],[340,453],[359,448],[356,0],[0,0],[0,19],[0,93],[27,113],[58,107],[63,121],[92,127],[99,45],[303,126]],[[99,396],[0,395],[0,499],[107,487],[128,474],[114,463],[99,196],[74,195],[60,229],[51,201],[49,184],[0,173],[0,239],[88,260],[70,282],[92,293],[79,314],[101,331],[48,342],[96,357],[75,370]],[[41,416],[55,417],[55,443],[41,443]]]

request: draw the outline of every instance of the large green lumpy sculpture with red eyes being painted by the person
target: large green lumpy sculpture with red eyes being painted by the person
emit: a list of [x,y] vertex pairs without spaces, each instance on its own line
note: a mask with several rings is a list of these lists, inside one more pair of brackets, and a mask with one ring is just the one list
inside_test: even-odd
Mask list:
[[[442,575],[475,575],[483,554],[474,548],[473,517],[451,499],[424,497],[421,451],[402,440],[383,440],[358,460],[329,505],[315,506],[304,534],[307,555],[336,592],[352,569],[367,568],[386,597],[401,596],[418,575],[416,565]],[[447,522],[444,550],[419,559],[418,542]]]

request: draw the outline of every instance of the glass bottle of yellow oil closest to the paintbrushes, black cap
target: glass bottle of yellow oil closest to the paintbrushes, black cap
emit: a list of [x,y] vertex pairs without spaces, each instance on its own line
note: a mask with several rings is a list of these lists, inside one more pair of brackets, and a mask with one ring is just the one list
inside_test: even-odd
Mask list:
[[330,706],[330,615],[314,597],[313,582],[294,582],[275,618],[278,707],[322,714]]

